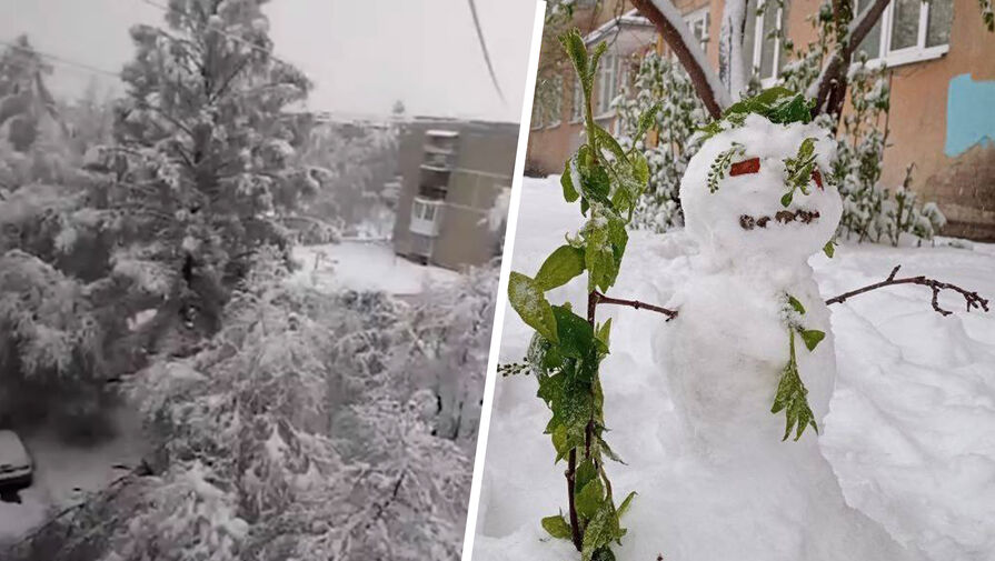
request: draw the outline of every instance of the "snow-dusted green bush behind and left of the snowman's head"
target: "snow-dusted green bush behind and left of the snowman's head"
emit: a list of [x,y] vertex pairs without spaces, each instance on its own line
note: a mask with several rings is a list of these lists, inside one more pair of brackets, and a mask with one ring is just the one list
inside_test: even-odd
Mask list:
[[614,101],[624,147],[631,146],[639,117],[657,103],[660,109],[648,139],[636,142],[649,163],[649,186],[636,204],[631,226],[663,232],[684,224],[677,191],[699,144],[695,131],[707,114],[684,67],[651,51],[639,60],[633,86],[625,84]]

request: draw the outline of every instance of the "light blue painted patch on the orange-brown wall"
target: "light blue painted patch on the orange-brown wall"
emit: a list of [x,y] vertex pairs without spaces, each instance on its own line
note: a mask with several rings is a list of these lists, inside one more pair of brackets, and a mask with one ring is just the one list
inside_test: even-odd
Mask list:
[[951,80],[946,102],[946,144],[953,158],[979,143],[995,143],[995,80],[974,81],[971,74]]

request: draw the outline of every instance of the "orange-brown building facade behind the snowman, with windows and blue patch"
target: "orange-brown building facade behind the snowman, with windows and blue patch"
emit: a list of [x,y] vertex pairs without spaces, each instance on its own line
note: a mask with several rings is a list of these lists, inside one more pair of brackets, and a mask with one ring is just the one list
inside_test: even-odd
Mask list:
[[[782,29],[795,46],[815,41],[809,18],[820,0],[785,0],[783,8],[754,16],[757,1],[764,0],[747,7],[744,52],[769,86],[787,63],[784,46],[770,31]],[[857,0],[856,7],[868,3]],[[626,61],[664,49],[653,26],[627,4],[581,2],[574,18],[589,46],[609,41],[593,100],[596,119],[609,130],[614,114],[608,106],[633,72]],[[675,4],[717,68],[723,0]],[[892,96],[882,184],[901,186],[906,168],[915,164],[912,188],[922,200],[939,206],[948,220],[944,234],[995,241],[995,34],[982,23],[977,2],[893,0],[860,50],[888,69]],[[559,107],[537,104],[543,107],[533,114],[527,169],[558,173],[580,142],[579,88],[570,69],[555,76],[540,70],[539,80],[564,88]]]

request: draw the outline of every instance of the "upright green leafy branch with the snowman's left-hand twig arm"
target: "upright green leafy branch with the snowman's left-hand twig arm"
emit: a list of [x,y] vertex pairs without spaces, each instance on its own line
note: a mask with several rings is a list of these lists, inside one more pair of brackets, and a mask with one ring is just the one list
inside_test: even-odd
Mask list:
[[[538,397],[553,412],[546,425],[556,450],[556,462],[566,459],[567,512],[543,519],[554,538],[570,540],[583,561],[614,559],[611,542],[625,535],[619,519],[635,497],[616,507],[605,459],[620,461],[605,441],[605,395],[599,378],[600,361],[608,354],[611,321],[596,321],[599,303],[623,304],[665,313],[676,312],[634,300],[605,295],[618,277],[628,243],[626,224],[636,201],[649,181],[649,167],[641,152],[624,150],[594,121],[590,97],[597,76],[601,44],[588,53],[576,30],[560,36],[578,74],[585,101],[587,142],[566,162],[560,180],[564,199],[579,200],[587,221],[567,243],[543,262],[535,277],[513,272],[508,300],[523,321],[535,330],[525,364],[500,368],[505,375],[529,372],[539,382]],[[640,133],[653,122],[656,107],[640,118]],[[645,126],[644,126],[645,124]],[[553,305],[546,292],[587,272],[585,317],[569,302]]]

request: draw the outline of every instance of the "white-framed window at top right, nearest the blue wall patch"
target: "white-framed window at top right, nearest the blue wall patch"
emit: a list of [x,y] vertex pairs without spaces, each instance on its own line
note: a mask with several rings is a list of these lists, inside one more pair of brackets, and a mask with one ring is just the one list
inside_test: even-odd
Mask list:
[[[857,0],[855,12],[870,6]],[[888,66],[942,57],[949,50],[953,0],[893,0],[857,48],[867,60]]]

